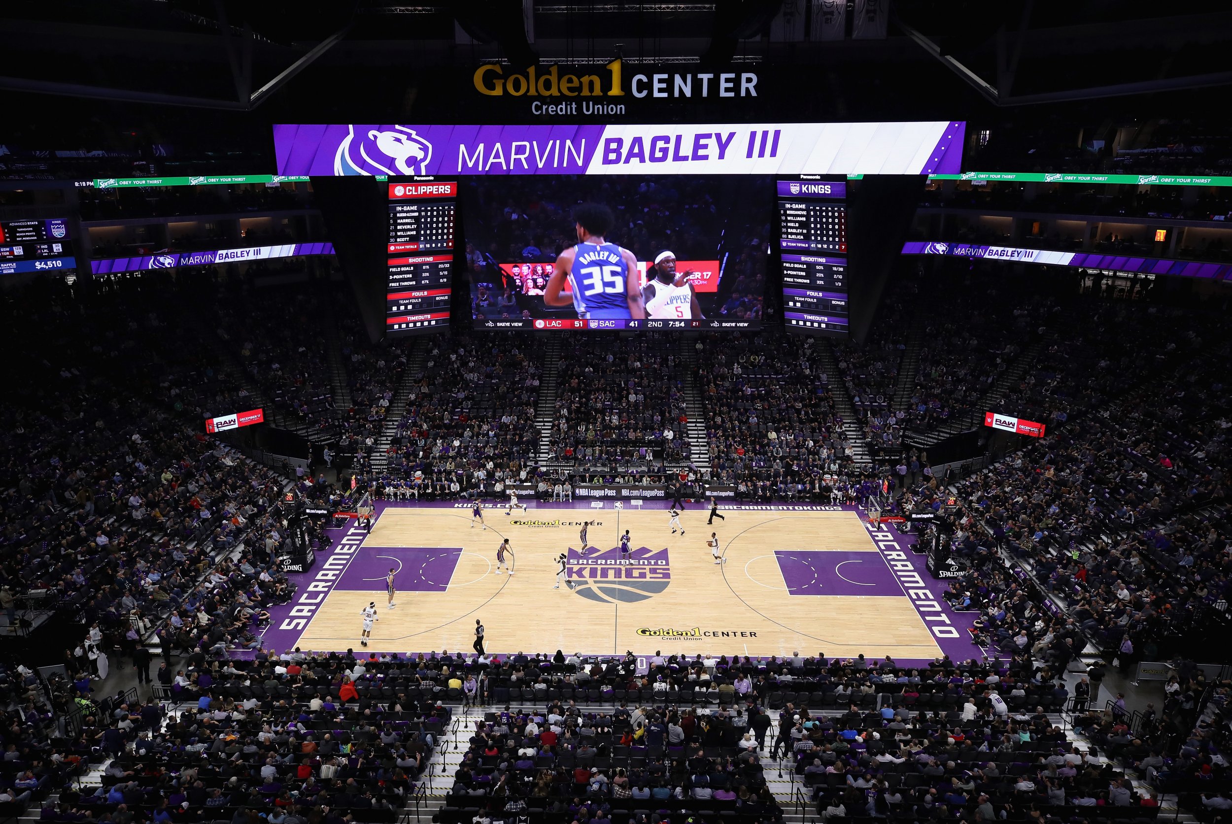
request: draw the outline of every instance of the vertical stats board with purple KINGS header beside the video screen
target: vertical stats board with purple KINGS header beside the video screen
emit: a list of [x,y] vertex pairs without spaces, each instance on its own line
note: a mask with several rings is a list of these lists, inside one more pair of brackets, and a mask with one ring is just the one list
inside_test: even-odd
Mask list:
[[846,181],[780,180],[779,238],[787,330],[846,336]]

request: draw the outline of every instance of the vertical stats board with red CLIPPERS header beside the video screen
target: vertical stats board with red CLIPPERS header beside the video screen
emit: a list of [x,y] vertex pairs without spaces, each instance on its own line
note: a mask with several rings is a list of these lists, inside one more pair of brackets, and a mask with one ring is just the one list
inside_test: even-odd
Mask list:
[[388,186],[386,334],[448,326],[457,182],[419,179]]

